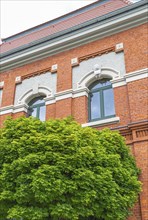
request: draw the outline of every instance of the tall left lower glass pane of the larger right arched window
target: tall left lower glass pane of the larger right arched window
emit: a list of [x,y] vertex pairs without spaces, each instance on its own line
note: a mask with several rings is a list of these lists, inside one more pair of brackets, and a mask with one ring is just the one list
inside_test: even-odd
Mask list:
[[100,92],[92,93],[91,97],[91,120],[100,118]]

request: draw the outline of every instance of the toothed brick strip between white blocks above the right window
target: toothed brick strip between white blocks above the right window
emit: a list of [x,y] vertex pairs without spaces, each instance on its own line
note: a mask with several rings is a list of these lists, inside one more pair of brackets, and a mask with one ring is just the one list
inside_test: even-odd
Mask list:
[[104,50],[99,50],[99,51],[97,51],[95,53],[91,53],[91,54],[87,54],[85,56],[79,57],[78,60],[79,60],[79,63],[80,63],[80,62],[82,62],[84,60],[88,60],[88,59],[94,58],[96,56],[101,56],[102,54],[107,54],[107,53],[113,52],[113,51],[115,51],[115,47],[114,46],[113,47],[109,47],[109,48],[104,49]]

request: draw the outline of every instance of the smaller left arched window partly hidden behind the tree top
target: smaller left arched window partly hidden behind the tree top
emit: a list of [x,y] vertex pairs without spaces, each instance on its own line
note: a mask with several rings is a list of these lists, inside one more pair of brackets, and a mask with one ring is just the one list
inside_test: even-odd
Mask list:
[[29,116],[39,118],[41,121],[45,121],[46,108],[44,97],[37,97],[32,99],[29,103]]

